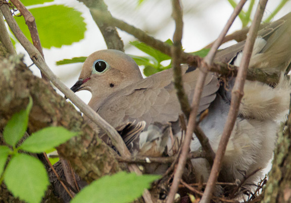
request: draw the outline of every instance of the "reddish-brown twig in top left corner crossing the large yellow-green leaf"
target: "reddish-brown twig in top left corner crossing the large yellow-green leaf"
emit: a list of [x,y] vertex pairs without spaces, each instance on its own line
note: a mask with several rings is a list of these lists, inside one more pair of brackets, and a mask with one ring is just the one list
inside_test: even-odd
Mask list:
[[[44,58],[44,55],[42,52],[42,47],[40,44],[38,31],[37,31],[37,27],[36,27],[36,23],[35,23],[35,19],[34,19],[33,15],[30,13],[30,11],[28,11],[26,9],[26,7],[19,0],[10,0],[10,2],[12,2],[12,4],[18,9],[18,11],[24,17],[25,23],[26,23],[26,25],[29,29],[29,32],[30,32],[32,43],[33,43],[34,47],[39,51],[41,56]],[[43,74],[42,71],[40,71],[40,73],[41,73],[41,77],[43,79],[45,79],[46,81],[49,81],[49,79]]]

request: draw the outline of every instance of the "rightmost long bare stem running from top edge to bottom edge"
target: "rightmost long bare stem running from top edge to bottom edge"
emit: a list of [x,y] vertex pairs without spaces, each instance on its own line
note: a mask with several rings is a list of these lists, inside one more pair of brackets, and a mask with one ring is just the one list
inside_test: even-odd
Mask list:
[[215,182],[217,180],[217,177],[221,168],[222,158],[225,153],[227,142],[229,140],[231,131],[233,129],[233,126],[237,117],[240,100],[243,97],[243,90],[244,90],[244,84],[245,84],[245,80],[247,76],[248,66],[249,66],[256,35],[260,27],[260,22],[262,20],[266,4],[267,4],[267,0],[260,0],[257,10],[256,10],[254,21],[250,27],[250,32],[247,37],[247,42],[243,50],[243,58],[241,59],[238,74],[235,79],[234,87],[231,93],[230,110],[228,113],[225,127],[223,129],[221,140],[218,145],[218,149],[217,149],[216,156],[214,159],[214,164],[213,164],[213,167],[212,167],[212,170],[207,182],[207,186],[205,188],[204,195],[202,196],[202,199],[201,199],[201,203],[209,203],[213,190],[214,190]]

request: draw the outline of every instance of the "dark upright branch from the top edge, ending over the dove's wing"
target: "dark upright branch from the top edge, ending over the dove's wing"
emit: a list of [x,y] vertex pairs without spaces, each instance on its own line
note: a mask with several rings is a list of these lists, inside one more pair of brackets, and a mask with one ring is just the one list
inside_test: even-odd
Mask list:
[[181,53],[182,53],[182,35],[183,35],[183,12],[181,9],[179,0],[172,0],[173,13],[172,17],[175,20],[176,28],[173,36],[173,46],[172,46],[172,66],[174,71],[174,84],[177,90],[177,97],[180,102],[181,109],[186,117],[189,117],[190,104],[188,102],[188,97],[185,94],[185,90],[182,83],[182,73],[181,73]]

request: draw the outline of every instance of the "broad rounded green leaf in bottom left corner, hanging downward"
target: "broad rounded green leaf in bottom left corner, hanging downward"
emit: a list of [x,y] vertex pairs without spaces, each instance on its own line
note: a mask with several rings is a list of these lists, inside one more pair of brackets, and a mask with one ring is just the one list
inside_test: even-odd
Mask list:
[[39,203],[50,183],[40,160],[27,154],[12,157],[4,181],[14,196],[29,203]]

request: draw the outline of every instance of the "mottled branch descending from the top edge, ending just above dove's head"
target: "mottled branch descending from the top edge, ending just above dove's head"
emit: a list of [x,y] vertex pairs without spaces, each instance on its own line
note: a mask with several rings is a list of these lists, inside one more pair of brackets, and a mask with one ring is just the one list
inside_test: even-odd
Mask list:
[[[96,10],[106,13],[106,15],[111,16],[111,13],[107,9],[107,5],[102,0],[97,0],[97,1],[78,0],[78,1],[83,2],[86,5],[86,7],[89,8],[90,12],[91,12],[91,9],[96,9]],[[116,50],[124,52],[124,45],[120,36],[118,35],[116,28],[104,22],[102,19],[94,18],[94,21],[96,25],[99,27],[104,37],[107,48],[116,49]]]

